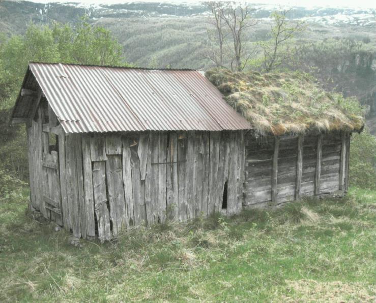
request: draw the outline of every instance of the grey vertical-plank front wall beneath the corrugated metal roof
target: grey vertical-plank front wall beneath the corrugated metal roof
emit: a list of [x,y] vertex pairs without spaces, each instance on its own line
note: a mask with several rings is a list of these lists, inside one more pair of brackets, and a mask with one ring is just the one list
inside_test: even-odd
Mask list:
[[70,134],[62,140],[64,224],[76,237],[97,233],[106,241],[133,225],[242,210],[241,131]]

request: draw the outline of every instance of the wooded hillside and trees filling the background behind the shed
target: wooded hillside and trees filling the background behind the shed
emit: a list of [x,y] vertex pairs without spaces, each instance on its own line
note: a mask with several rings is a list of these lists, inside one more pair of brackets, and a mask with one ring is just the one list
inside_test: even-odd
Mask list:
[[[19,10],[17,6],[26,7]],[[179,17],[163,13],[176,13],[177,7],[165,11],[149,7],[160,10],[160,15],[150,18],[114,17],[103,12],[96,18],[98,12],[73,7],[64,7],[60,14],[53,9],[52,13],[35,14],[42,9],[47,12],[46,6],[25,2],[13,6],[3,2],[0,8],[0,15],[6,16],[0,23],[6,29],[0,35],[0,184],[28,180],[24,126],[9,124],[28,61],[204,71],[214,66],[260,73],[301,71],[328,91],[356,97],[371,132],[375,131],[376,36],[368,27],[367,31],[356,26],[338,31],[334,26],[295,18],[297,12],[290,9],[257,15],[253,7],[238,5],[233,11],[227,9],[228,24],[226,19],[223,24],[216,22],[218,7],[209,4],[187,9]],[[233,25],[234,18],[241,22]],[[366,129],[354,141],[358,144],[353,144],[353,167],[358,173],[353,180],[372,186],[375,139]],[[366,161],[362,155],[367,155],[363,157]]]

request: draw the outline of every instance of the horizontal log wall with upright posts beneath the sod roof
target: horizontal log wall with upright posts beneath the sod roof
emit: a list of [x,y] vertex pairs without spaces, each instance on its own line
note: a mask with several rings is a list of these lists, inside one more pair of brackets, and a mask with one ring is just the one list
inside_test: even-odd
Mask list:
[[348,189],[350,134],[245,138],[244,206]]

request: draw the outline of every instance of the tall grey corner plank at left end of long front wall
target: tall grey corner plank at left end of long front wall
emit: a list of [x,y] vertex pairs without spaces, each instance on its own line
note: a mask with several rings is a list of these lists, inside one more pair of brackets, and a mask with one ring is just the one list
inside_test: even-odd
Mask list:
[[59,172],[60,172],[60,188],[61,188],[61,196],[62,196],[63,226],[64,226],[64,229],[70,230],[70,228],[72,227],[72,224],[70,221],[69,208],[68,208],[66,160],[65,160],[65,133],[64,132],[62,132],[58,136],[58,141],[59,141],[59,166],[60,166]]

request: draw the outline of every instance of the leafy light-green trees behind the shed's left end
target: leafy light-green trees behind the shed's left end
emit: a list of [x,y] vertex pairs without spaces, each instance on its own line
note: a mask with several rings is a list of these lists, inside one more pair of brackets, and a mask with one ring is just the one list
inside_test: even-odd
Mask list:
[[85,17],[75,27],[31,23],[23,36],[0,35],[0,170],[20,179],[28,175],[25,129],[8,121],[29,61],[127,65],[110,31]]

